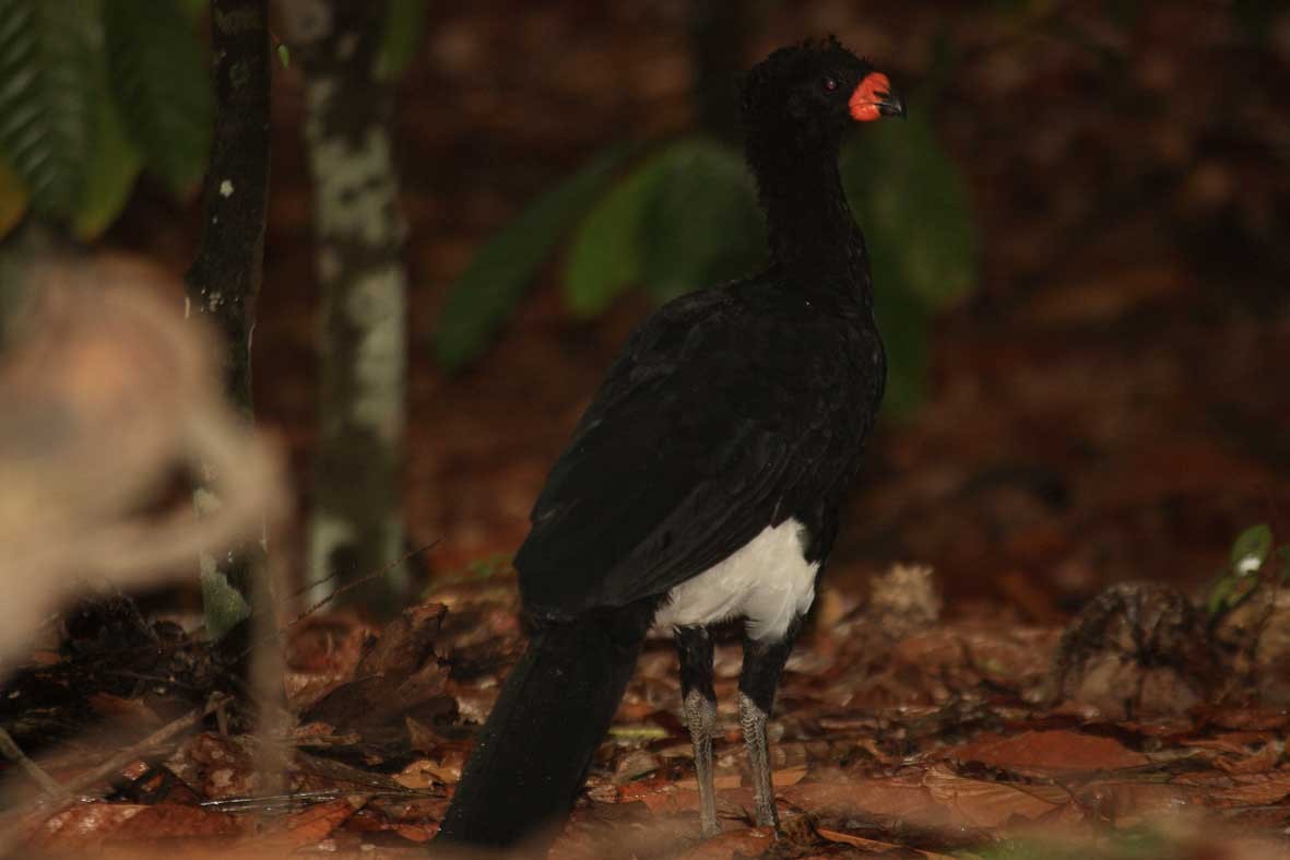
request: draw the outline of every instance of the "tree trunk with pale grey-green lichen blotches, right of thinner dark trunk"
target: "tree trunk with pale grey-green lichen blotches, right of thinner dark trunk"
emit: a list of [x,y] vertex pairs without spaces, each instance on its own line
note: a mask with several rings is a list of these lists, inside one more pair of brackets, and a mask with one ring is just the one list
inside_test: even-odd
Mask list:
[[284,0],[281,10],[306,75],[322,291],[311,597],[378,575],[355,597],[390,615],[409,585],[399,562],[408,278],[390,134],[393,90],[374,75],[386,4]]

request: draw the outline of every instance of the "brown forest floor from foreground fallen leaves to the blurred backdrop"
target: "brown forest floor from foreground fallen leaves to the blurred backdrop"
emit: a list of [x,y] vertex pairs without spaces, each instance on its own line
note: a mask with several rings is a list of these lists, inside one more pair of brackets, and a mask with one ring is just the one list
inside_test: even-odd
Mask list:
[[[480,240],[588,152],[689,123],[684,4],[560,5],[442,6],[405,87],[408,526],[435,544],[428,602],[384,626],[335,613],[285,630],[288,708],[263,735],[243,731],[244,691],[174,625],[121,606],[64,617],[6,683],[0,721],[93,802],[41,801],[8,767],[10,856],[424,854],[522,648],[508,553],[649,305],[574,322],[543,282],[459,376],[432,365],[435,315]],[[1273,158],[1290,30],[1255,52],[1224,4],[1136,4],[1133,26],[1102,9],[1116,4],[1037,4],[1075,9],[1058,23],[1078,39],[1009,35],[1017,4],[864,4],[863,19],[862,4],[793,5],[759,49],[833,31],[915,79],[938,34],[975,57],[935,110],[973,190],[982,284],[937,319],[926,405],[880,426],[788,665],[773,722],[783,839],[751,826],[734,638],[717,651],[724,833],[699,839],[675,656],[657,639],[556,852],[1287,856],[1285,597],[1219,620],[1191,606],[1242,529],[1290,536],[1290,172]],[[529,62],[493,62],[516,56]],[[283,129],[301,125],[294,74],[275,93]],[[276,147],[257,409],[307,509],[308,191],[298,141]],[[183,271],[197,218],[166,207],[144,189],[110,243]],[[284,537],[286,554],[302,544]],[[1180,591],[1098,598],[1140,580]]]

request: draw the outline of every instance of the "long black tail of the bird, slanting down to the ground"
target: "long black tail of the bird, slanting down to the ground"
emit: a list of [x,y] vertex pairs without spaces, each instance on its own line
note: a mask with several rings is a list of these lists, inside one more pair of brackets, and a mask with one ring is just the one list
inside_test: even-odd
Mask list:
[[559,834],[653,616],[650,600],[533,634],[466,763],[437,847],[522,843],[541,852]]

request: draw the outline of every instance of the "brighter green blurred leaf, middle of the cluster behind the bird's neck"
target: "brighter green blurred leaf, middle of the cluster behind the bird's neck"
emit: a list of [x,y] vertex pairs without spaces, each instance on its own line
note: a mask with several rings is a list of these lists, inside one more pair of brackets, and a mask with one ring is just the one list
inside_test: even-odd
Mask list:
[[646,158],[583,217],[565,257],[564,298],[573,315],[595,316],[641,280],[645,210],[675,146]]

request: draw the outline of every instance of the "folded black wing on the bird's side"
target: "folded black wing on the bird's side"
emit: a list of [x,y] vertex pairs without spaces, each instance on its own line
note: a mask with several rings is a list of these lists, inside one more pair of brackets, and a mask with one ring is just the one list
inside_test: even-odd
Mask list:
[[646,320],[534,505],[515,558],[526,607],[568,616],[663,594],[845,479],[872,413],[849,333],[749,285]]

